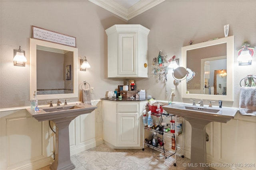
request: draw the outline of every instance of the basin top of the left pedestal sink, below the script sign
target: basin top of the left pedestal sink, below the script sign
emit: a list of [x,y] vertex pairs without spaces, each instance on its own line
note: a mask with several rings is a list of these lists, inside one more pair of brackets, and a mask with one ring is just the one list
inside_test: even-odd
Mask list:
[[39,107],[39,112],[31,111],[30,108],[28,108],[27,110],[32,115],[32,117],[34,117],[38,121],[46,121],[63,119],[66,117],[76,117],[81,114],[91,113],[96,108],[96,106],[88,104],[74,104],[68,106]]

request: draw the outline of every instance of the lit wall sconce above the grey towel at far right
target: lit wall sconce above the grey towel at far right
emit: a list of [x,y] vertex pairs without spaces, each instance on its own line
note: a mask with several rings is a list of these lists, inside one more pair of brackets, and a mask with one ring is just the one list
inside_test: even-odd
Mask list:
[[251,65],[252,64],[252,56],[254,54],[254,48],[249,47],[250,44],[248,41],[244,42],[244,45],[242,45],[242,49],[238,50],[238,65]]

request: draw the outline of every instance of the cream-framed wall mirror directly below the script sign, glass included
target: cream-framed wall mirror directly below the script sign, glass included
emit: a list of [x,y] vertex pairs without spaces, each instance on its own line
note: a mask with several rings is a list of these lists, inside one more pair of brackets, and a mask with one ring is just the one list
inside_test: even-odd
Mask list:
[[78,49],[30,38],[30,100],[78,97]]

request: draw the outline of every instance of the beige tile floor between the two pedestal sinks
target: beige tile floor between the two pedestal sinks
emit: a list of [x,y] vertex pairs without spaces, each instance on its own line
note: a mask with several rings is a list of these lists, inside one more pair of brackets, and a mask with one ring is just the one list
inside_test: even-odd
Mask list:
[[[112,149],[105,144],[71,156],[74,170],[185,170],[183,164],[190,159],[174,156],[165,159],[163,154],[152,149]],[[160,156],[160,157],[159,157]],[[49,166],[39,170],[50,170]]]

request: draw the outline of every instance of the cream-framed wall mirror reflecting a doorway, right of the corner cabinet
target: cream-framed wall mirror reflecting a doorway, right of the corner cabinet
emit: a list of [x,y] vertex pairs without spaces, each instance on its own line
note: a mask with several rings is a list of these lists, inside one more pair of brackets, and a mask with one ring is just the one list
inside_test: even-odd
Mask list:
[[234,36],[182,47],[182,66],[196,75],[182,81],[182,98],[233,101],[233,64]]

